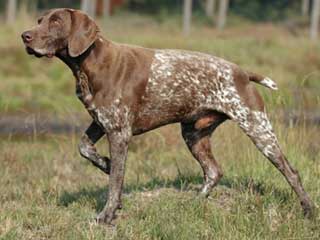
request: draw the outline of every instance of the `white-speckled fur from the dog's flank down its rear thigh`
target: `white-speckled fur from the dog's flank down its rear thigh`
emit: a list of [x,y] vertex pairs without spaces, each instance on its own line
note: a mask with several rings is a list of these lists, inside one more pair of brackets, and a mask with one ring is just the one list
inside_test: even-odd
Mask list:
[[[184,119],[200,111],[215,110],[238,122],[266,156],[275,154],[277,138],[264,111],[251,110],[234,82],[236,65],[202,53],[158,50],[151,66],[141,117],[177,109]],[[148,98],[155,99],[149,101]],[[173,113],[175,114],[175,113]]]

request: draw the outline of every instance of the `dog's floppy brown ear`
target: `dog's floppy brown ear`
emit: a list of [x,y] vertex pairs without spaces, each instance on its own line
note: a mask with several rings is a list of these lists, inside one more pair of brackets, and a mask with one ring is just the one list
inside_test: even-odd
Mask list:
[[69,55],[78,57],[97,39],[99,28],[96,23],[81,11],[71,11],[71,32],[68,41]]

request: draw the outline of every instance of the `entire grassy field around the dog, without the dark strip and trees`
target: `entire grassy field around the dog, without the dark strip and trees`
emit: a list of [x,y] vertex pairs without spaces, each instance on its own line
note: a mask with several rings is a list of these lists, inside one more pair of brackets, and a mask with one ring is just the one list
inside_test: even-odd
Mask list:
[[[1,116],[85,115],[71,72],[58,60],[33,59],[25,53],[19,35],[32,24],[22,16],[15,26],[0,29]],[[278,92],[259,90],[284,152],[319,207],[319,126],[288,126],[278,117],[283,109],[319,110],[319,44],[270,24],[243,23],[220,33],[196,23],[188,39],[174,20],[119,15],[100,25],[114,41],[208,52],[275,79]],[[1,136],[0,239],[320,238],[319,216],[303,218],[283,177],[231,122],[212,138],[224,177],[209,199],[197,196],[201,170],[179,126],[134,138],[124,209],[113,228],[93,221],[105,203],[108,177],[79,156],[78,139]],[[108,155],[106,140],[98,149]]]

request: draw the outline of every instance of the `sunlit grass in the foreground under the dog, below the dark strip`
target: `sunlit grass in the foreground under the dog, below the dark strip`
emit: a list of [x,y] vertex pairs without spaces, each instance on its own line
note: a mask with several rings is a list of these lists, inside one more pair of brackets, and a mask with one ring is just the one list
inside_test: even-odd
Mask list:
[[[306,190],[320,204],[319,128],[276,125]],[[319,216],[305,220],[281,174],[232,123],[213,136],[224,177],[198,197],[198,163],[170,126],[134,138],[124,209],[114,228],[94,224],[108,178],[77,152],[79,136],[2,139],[2,239],[318,239]],[[310,146],[309,142],[313,142]],[[106,140],[98,145],[106,153]]]

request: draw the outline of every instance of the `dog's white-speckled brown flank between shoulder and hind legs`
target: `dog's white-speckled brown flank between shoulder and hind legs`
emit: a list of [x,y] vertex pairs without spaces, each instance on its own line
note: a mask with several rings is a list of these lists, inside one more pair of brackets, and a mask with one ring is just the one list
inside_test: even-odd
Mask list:
[[134,123],[135,132],[195,119],[207,110],[228,112],[230,104],[240,99],[233,79],[234,66],[196,52],[157,51]]

